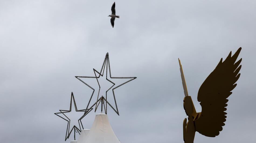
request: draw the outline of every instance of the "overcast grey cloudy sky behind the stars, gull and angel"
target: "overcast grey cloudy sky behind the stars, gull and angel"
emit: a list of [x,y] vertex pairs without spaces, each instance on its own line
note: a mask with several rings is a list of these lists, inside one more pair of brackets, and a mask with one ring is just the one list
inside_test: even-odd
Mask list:
[[[1,142],[64,142],[67,122],[53,113],[69,109],[71,91],[77,108],[86,108],[92,90],[74,76],[94,76],[106,52],[112,76],[137,77],[115,91],[120,116],[108,110],[119,140],[183,142],[178,58],[200,112],[200,85],[239,47],[241,76],[226,125],[215,138],[196,133],[195,142],[255,142],[256,1],[116,0],[112,28],[113,2],[0,0]],[[94,117],[83,119],[85,128]]]

